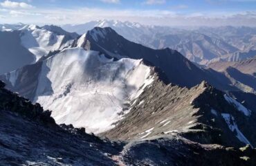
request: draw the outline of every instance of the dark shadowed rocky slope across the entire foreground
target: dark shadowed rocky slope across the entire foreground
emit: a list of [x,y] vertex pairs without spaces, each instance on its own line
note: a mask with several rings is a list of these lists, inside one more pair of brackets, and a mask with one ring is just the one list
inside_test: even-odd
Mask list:
[[72,125],[3,88],[0,165],[255,165],[256,150],[200,145],[179,136],[111,142]]

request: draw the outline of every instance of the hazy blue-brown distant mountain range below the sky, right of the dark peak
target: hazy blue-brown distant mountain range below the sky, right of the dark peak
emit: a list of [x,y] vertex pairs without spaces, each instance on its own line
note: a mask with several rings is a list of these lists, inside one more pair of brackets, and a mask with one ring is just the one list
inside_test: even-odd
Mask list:
[[94,27],[111,27],[132,42],[150,48],[172,48],[190,61],[207,65],[212,61],[236,61],[255,56],[256,28],[219,27],[170,28],[144,26],[121,21],[91,21],[80,25],[65,25],[64,30],[84,34]]

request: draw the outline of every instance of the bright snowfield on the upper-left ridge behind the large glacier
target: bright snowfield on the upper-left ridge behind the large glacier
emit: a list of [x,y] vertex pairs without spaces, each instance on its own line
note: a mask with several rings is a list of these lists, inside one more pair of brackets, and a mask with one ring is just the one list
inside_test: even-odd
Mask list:
[[64,35],[56,35],[35,25],[24,26],[21,31],[21,44],[35,55],[35,62],[50,51],[61,50],[73,42],[68,40],[63,43]]

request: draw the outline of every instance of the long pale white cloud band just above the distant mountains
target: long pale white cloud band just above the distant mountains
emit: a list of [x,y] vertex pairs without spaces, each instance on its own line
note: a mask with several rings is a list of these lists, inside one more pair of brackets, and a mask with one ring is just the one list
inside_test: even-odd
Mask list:
[[182,13],[172,10],[31,8],[0,10],[0,15],[6,17],[2,18],[6,23],[16,23],[22,19],[25,24],[41,25],[83,24],[98,19],[115,19],[156,26],[256,26],[256,12]]

